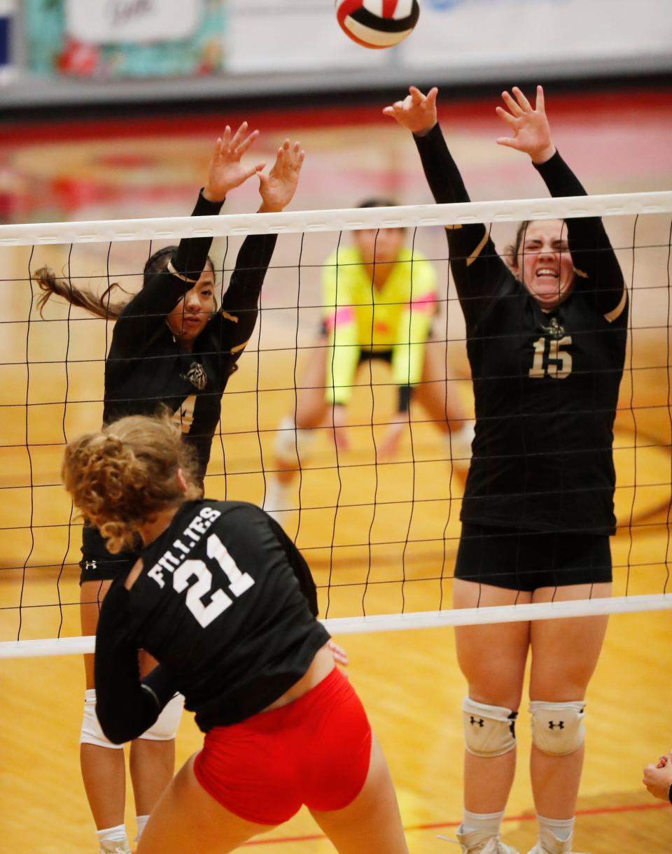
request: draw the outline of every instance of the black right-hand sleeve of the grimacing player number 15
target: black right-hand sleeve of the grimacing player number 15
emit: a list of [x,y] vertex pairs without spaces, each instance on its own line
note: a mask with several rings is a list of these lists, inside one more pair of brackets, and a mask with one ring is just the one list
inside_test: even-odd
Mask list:
[[[544,178],[551,196],[587,195],[581,181],[557,151],[550,160],[533,166]],[[601,313],[612,312],[622,301],[625,282],[602,219],[585,217],[567,219],[566,223],[576,286],[592,291]]]

